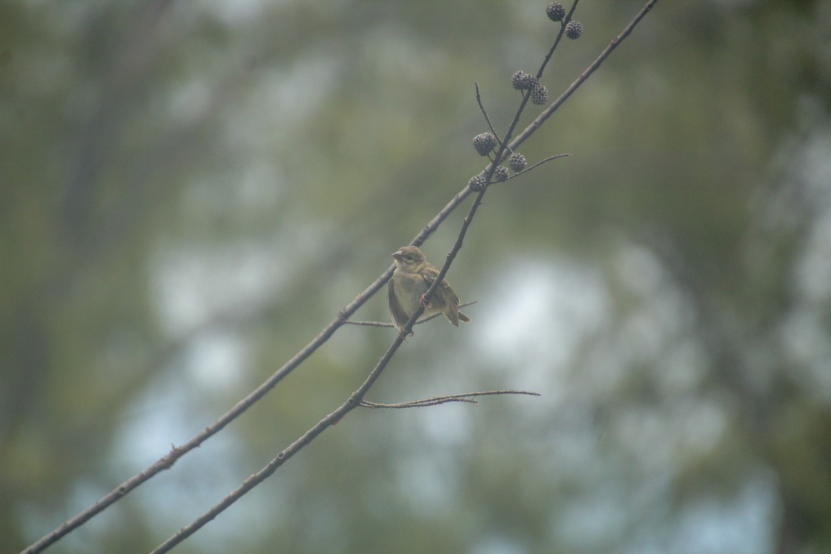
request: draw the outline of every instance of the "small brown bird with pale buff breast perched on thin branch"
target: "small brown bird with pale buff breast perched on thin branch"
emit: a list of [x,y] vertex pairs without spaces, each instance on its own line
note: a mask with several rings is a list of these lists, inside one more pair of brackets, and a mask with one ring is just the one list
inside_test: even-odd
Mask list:
[[[459,321],[470,322],[470,317],[459,311],[459,296],[445,279],[435,289],[429,304],[424,304],[424,294],[439,277],[439,269],[430,263],[415,246],[401,247],[392,252],[396,262],[396,271],[392,273],[387,297],[390,301],[392,322],[403,337],[401,327],[410,319],[419,305],[425,306],[424,315],[444,314],[447,321],[459,326]],[[412,334],[412,332],[411,332]]]

